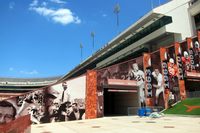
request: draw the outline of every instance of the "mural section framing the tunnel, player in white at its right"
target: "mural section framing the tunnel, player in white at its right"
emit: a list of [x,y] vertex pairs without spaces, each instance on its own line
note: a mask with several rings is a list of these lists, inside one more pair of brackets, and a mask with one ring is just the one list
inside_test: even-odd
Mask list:
[[[139,57],[117,65],[97,71],[97,90],[98,90],[98,114],[103,114],[103,93],[104,88],[121,86],[132,86],[139,88],[140,106],[146,106],[146,92],[144,87],[143,57]],[[123,88],[123,87],[122,87]],[[115,90],[117,91],[117,90]]]

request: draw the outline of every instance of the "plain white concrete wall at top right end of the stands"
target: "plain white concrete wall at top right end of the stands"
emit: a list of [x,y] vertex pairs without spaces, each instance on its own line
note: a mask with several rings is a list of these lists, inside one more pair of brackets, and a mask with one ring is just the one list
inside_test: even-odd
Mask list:
[[188,11],[190,0],[172,0],[153,10],[153,12],[172,17],[172,23],[166,26],[167,32],[181,33],[182,40],[193,36],[191,16]]

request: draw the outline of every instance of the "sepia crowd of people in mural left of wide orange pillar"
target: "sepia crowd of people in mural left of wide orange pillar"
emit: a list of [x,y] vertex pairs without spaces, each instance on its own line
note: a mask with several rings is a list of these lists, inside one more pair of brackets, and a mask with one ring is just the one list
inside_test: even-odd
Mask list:
[[62,90],[53,86],[15,99],[0,101],[0,124],[30,114],[33,124],[85,119],[85,99],[70,99],[67,82]]

